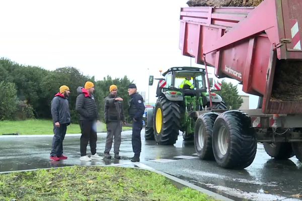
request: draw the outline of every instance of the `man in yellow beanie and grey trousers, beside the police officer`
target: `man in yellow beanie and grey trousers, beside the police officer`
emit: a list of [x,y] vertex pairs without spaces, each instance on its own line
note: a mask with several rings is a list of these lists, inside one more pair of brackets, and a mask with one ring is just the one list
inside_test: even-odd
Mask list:
[[122,122],[125,122],[123,98],[117,97],[117,86],[112,84],[109,87],[110,94],[105,97],[104,115],[107,126],[107,137],[104,157],[111,158],[109,154],[114,137],[114,158],[120,159],[119,147],[121,144]]

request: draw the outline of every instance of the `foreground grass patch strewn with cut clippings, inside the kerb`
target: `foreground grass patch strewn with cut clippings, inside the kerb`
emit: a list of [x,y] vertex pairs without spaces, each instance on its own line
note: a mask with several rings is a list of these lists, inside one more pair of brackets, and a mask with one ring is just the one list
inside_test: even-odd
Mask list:
[[0,174],[0,200],[214,201],[147,170],[83,166]]

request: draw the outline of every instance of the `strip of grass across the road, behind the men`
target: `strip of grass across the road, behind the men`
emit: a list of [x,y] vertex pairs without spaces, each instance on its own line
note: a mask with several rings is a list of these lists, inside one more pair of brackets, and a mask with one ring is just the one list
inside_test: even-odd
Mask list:
[[[0,135],[9,133],[19,133],[21,135],[44,135],[53,134],[51,120],[25,120],[25,121],[0,121]],[[123,127],[123,130],[131,128]],[[97,125],[98,132],[106,132],[104,123]],[[67,134],[81,133],[79,124],[70,124],[67,127]]]

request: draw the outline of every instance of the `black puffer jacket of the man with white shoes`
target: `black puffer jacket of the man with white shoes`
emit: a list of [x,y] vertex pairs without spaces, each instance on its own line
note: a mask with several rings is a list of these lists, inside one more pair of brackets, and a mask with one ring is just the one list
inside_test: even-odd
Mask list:
[[80,114],[80,120],[98,120],[99,114],[94,96],[81,86],[77,88],[77,92],[79,95],[75,102],[75,110]]

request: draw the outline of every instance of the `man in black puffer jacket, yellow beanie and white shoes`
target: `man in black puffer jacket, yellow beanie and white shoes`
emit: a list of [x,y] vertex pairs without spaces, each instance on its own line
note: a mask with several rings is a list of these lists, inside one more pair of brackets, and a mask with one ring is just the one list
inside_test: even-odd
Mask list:
[[[80,114],[81,141],[80,141],[80,160],[91,161],[92,159],[100,160],[97,154],[97,121],[99,114],[95,103],[95,98],[92,95],[94,84],[90,81],[85,83],[84,88],[78,87],[78,97],[75,103],[75,110]],[[87,156],[87,145],[90,145],[91,157]]]

